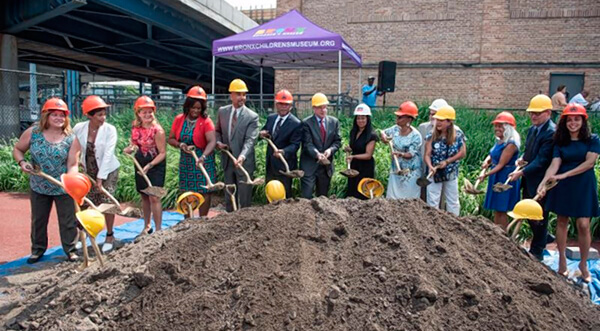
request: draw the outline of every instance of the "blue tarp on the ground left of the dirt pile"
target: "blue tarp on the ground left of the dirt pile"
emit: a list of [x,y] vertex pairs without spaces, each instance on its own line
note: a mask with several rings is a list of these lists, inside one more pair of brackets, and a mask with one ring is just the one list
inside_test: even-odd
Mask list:
[[[162,227],[163,229],[171,227],[183,220],[183,215],[175,212],[163,212],[163,220]],[[153,222],[152,222],[153,223]],[[122,242],[131,242],[135,239],[137,235],[142,232],[144,228],[144,220],[137,219],[132,222],[128,222],[122,225],[119,225],[113,229],[115,233],[115,239],[118,239]],[[101,244],[104,242],[104,238],[106,237],[106,231],[102,231],[98,237],[96,238],[96,242]],[[89,245],[89,239],[88,239]],[[11,261],[5,264],[0,265],[0,276],[7,276],[12,273],[19,272],[27,272],[28,270],[37,270],[48,267],[49,264],[55,264],[59,262],[65,261],[65,253],[62,250],[62,246],[55,246],[46,250],[46,253],[42,257],[42,259],[35,264],[27,264],[27,258],[29,256],[25,256],[15,261]]]

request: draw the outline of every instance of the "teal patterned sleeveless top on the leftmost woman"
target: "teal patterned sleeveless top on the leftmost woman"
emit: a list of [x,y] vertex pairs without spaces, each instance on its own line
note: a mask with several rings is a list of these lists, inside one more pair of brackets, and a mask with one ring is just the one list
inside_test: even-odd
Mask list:
[[[43,172],[60,181],[60,175],[67,172],[67,158],[74,139],[75,135],[69,134],[60,142],[51,143],[46,140],[40,128],[36,126],[31,131],[29,143],[32,165],[39,166]],[[66,194],[62,188],[40,176],[29,176],[29,185],[34,192],[39,194],[53,196]]]

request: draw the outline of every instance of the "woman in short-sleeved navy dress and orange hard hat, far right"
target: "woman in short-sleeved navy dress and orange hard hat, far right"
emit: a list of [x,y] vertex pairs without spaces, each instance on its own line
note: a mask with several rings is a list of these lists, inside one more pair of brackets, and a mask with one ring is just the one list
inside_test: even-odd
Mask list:
[[598,136],[590,133],[588,115],[578,104],[568,104],[562,112],[556,133],[552,163],[538,187],[538,194],[544,196],[544,184],[548,180],[559,183],[548,191],[546,208],[557,215],[556,243],[558,245],[558,273],[568,276],[565,250],[569,218],[577,222],[577,238],[581,261],[579,270],[584,282],[591,281],[587,257],[590,250],[590,218],[600,215],[598,191],[594,164],[600,153]]

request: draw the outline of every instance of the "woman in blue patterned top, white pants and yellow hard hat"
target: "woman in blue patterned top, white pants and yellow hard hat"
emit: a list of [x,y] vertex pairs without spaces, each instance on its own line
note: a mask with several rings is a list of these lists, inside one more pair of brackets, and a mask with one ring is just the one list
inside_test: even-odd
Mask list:
[[425,138],[425,162],[434,173],[434,182],[427,187],[427,204],[439,208],[443,192],[446,210],[458,216],[458,165],[467,155],[464,134],[454,127],[456,111],[452,106],[441,107],[433,118],[435,129]]

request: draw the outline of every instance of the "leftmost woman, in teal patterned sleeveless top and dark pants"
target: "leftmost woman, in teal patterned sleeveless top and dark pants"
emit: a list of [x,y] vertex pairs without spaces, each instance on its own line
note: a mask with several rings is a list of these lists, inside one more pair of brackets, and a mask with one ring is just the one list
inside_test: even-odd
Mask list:
[[[13,157],[21,170],[30,174],[32,164],[60,181],[64,173],[77,173],[80,145],[69,124],[69,109],[59,98],[51,98],[42,107],[40,122],[25,130],[13,148]],[[31,154],[31,163],[25,153]],[[31,201],[31,256],[27,263],[39,261],[48,248],[48,219],[56,204],[60,241],[69,260],[77,259],[75,202],[65,191],[39,176],[29,176]]]

